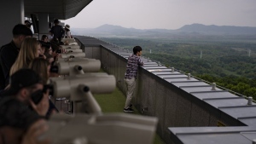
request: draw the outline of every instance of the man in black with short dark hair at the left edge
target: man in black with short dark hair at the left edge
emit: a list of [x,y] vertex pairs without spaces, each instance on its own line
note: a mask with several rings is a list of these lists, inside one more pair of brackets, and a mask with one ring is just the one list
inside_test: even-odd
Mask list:
[[0,90],[9,84],[9,71],[19,54],[21,43],[26,37],[32,37],[32,31],[25,25],[18,24],[13,29],[11,43],[0,49]]

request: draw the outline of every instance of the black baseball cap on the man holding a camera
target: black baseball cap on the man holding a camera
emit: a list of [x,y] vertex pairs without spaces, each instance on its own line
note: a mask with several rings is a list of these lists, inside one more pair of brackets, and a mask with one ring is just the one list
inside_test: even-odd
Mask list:
[[20,69],[9,78],[9,89],[3,90],[0,95],[16,95],[20,89],[34,84],[43,84],[42,78],[32,69]]

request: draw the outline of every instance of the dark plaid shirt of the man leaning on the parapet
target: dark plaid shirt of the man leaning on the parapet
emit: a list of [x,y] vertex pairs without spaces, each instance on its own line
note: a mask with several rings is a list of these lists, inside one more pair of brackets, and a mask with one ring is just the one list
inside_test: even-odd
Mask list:
[[137,78],[138,66],[143,66],[141,57],[134,54],[130,55],[126,66],[125,78]]

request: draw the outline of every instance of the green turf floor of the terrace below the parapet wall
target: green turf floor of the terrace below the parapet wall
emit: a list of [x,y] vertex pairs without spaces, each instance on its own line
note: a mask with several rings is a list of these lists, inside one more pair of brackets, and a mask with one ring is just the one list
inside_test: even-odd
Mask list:
[[[125,95],[119,90],[115,89],[111,94],[94,95],[96,101],[102,107],[103,113],[108,112],[123,112],[125,106]],[[132,114],[140,114],[137,109]],[[154,144],[165,144],[159,135],[154,136]]]

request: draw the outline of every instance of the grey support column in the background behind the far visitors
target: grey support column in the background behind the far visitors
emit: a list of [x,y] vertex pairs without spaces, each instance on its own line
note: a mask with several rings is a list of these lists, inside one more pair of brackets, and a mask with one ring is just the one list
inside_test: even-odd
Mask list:
[[42,35],[47,35],[49,33],[49,15],[45,13],[38,14],[38,29],[39,29],[39,38],[41,39]]

